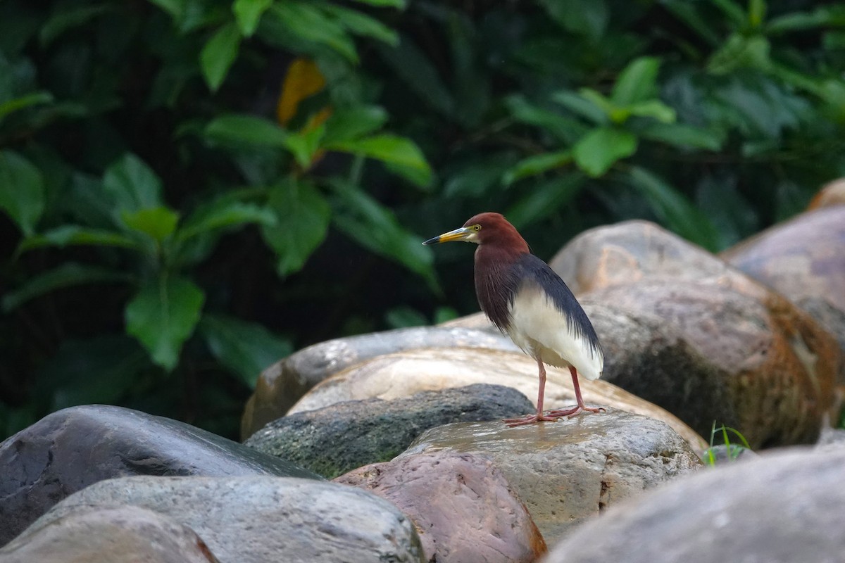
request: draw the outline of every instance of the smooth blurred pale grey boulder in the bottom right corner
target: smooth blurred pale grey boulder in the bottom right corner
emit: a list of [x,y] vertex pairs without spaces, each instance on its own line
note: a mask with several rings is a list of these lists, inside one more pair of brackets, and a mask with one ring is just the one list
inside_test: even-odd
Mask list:
[[842,561],[845,448],[726,463],[613,506],[544,563]]

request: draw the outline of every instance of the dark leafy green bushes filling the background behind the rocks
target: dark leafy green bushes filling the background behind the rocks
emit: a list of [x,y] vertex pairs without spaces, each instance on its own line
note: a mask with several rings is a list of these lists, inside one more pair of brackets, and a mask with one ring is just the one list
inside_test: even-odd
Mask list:
[[4,0],[0,438],[115,403],[224,436],[259,371],[475,311],[622,219],[717,251],[845,176],[845,3]]

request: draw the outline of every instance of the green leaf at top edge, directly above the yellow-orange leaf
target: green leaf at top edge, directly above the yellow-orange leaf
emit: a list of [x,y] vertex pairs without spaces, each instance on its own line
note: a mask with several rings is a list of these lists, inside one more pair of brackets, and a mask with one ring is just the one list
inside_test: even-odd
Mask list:
[[276,2],[268,10],[293,35],[307,41],[313,41],[340,53],[350,62],[358,62],[355,44],[341,24],[329,19],[322,11],[310,3],[297,0]]

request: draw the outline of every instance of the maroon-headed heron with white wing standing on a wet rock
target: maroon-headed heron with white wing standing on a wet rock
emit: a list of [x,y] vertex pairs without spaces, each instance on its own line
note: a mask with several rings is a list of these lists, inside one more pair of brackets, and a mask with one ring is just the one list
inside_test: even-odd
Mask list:
[[[475,289],[478,305],[502,333],[537,360],[537,413],[506,419],[508,426],[572,418],[598,413],[581,398],[578,375],[602,376],[604,353],[590,319],[563,279],[531,252],[528,243],[504,215],[474,215],[459,229],[435,236],[423,245],[450,241],[474,242]],[[577,404],[570,409],[543,412],[545,365],[569,368]]]

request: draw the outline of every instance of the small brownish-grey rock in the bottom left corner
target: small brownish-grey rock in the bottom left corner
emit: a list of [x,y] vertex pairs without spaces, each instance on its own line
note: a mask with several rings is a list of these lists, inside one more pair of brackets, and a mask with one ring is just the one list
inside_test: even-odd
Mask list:
[[80,508],[33,526],[0,549],[0,563],[218,563],[194,530],[137,506]]

